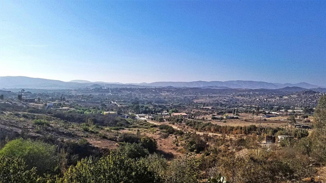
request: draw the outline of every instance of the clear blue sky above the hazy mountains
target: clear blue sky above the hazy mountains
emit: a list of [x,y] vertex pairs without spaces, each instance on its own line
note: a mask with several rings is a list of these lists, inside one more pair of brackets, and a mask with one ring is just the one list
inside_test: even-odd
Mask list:
[[326,1],[0,1],[0,76],[326,86]]

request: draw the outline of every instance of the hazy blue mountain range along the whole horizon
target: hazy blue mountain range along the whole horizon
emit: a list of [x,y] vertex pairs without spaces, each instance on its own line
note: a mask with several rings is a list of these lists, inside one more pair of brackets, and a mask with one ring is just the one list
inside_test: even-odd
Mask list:
[[[201,88],[201,89],[283,89],[284,90],[305,90],[316,89],[324,91],[324,87],[312,85],[309,83],[268,83],[263,81],[191,81],[191,82],[153,82],[153,83],[118,83],[118,82],[91,82],[87,80],[72,80],[69,82],[42,79],[23,76],[6,76],[0,77],[0,88],[30,88],[30,89],[75,89],[75,88],[95,88],[95,87],[175,87],[175,88]],[[302,88],[302,89],[301,89]],[[318,89],[319,88],[319,89]]]

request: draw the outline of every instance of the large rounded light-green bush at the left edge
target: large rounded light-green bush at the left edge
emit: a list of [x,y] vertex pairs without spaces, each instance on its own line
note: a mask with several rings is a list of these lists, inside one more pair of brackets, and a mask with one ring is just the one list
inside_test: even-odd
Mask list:
[[20,138],[8,142],[0,150],[0,156],[21,157],[26,161],[28,170],[37,167],[39,175],[54,172],[57,165],[55,146],[30,139],[23,140]]

